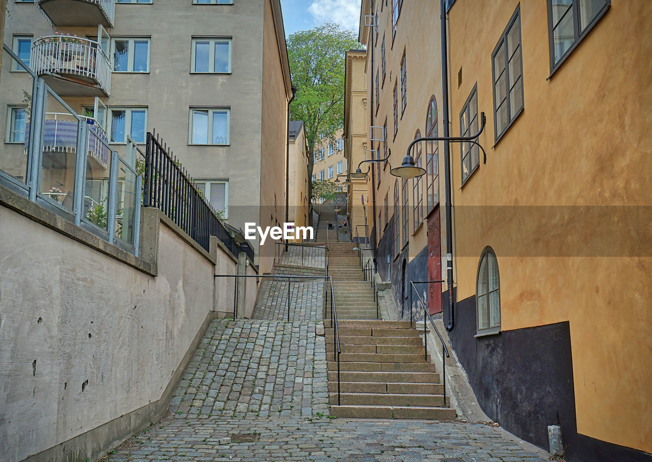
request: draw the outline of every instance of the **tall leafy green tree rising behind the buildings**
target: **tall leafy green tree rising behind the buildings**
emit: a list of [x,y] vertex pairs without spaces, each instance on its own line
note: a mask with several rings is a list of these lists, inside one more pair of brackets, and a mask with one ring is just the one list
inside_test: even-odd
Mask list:
[[[325,23],[288,37],[292,83],[297,88],[290,118],[303,121],[308,144],[308,178],[312,178],[315,144],[344,125],[344,68],[348,50],[363,48],[352,31]],[[308,183],[312,202],[313,184]]]

